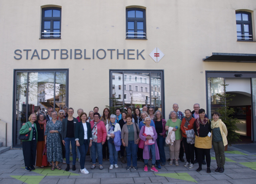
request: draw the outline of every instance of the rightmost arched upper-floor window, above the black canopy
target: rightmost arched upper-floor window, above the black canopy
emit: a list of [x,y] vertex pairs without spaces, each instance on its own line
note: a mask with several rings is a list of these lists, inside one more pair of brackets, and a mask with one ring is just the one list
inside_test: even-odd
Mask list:
[[237,41],[253,41],[252,39],[252,15],[250,12],[236,12]]

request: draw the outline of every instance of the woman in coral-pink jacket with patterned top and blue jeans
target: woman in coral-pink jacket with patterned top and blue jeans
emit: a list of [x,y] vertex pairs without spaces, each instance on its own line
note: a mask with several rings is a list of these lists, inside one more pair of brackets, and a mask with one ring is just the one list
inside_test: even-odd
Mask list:
[[90,121],[92,128],[92,167],[91,169],[95,169],[96,167],[96,150],[98,153],[100,170],[103,169],[102,166],[102,145],[106,142],[107,131],[103,121],[101,121],[100,114],[98,112],[94,112],[93,120]]

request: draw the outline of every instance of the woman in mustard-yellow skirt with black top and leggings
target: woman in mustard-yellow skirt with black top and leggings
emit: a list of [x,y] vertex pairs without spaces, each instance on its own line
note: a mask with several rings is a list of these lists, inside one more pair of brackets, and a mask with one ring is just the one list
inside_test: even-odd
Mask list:
[[211,173],[211,155],[210,149],[212,148],[212,137],[211,137],[211,121],[205,117],[205,110],[199,109],[199,118],[194,122],[194,132],[196,134],[195,147],[198,154],[198,169],[197,172],[202,170],[203,154],[205,154],[205,160],[207,164],[207,173]]

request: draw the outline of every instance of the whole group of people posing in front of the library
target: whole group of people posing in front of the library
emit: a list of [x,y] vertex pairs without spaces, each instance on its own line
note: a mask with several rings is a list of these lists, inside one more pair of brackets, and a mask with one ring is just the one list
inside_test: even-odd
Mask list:
[[[120,151],[121,162],[127,163],[126,170],[129,170],[131,165],[138,170],[137,161],[142,161],[144,171],[147,172],[150,159],[150,170],[158,172],[157,169],[165,165],[164,147],[168,144],[169,165],[179,165],[179,159],[184,162],[185,149],[187,162],[184,166],[193,168],[198,162],[199,167],[196,171],[199,172],[202,170],[202,164],[207,164],[207,173],[211,173],[210,149],[213,145],[218,166],[215,171],[223,173],[224,149],[228,143],[227,128],[219,119],[220,114],[214,112],[213,120],[210,121],[199,104],[194,104],[192,112],[189,109],[185,110],[185,116],[178,109],[178,104],[173,104],[173,111],[167,121],[161,111],[155,112],[152,107],[147,106],[142,108],[142,112],[138,107],[133,109],[134,114],[130,107],[127,108],[127,112],[117,108],[116,114],[110,114],[110,110],[105,108],[102,116],[98,112],[98,107],[94,107],[89,116],[83,109],[78,109],[77,118],[73,117],[74,109],[66,106],[59,113],[50,107],[47,115],[43,112],[31,114],[29,121],[20,129],[20,134],[27,134],[30,131],[28,141],[22,141],[25,170],[35,170],[35,165],[51,166],[51,170],[61,170],[58,164],[62,162],[67,164],[65,171],[69,171],[71,144],[73,171],[76,170],[78,155],[81,173],[89,173],[84,165],[85,156],[90,148],[91,169],[95,169],[99,163],[99,169],[102,170],[102,162],[107,159],[110,162],[109,169],[118,168],[117,159]],[[45,147],[48,163],[43,165]]]

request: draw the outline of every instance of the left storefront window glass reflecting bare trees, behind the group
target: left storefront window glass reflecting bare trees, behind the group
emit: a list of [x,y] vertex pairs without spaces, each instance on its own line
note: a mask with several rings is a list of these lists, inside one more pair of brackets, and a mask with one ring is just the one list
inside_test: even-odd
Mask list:
[[49,107],[58,112],[66,105],[67,71],[17,71],[15,84],[14,146],[20,146],[20,128],[32,113],[47,114]]

